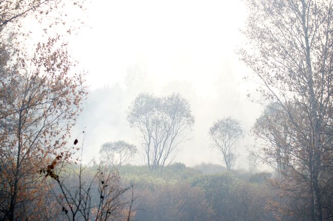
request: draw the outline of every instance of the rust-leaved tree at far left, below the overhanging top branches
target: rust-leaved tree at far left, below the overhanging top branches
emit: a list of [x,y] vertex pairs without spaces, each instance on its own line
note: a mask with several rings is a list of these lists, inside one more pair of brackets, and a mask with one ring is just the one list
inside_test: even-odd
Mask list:
[[18,191],[37,187],[38,167],[60,151],[67,159],[71,155],[66,139],[86,95],[82,76],[69,76],[71,65],[66,49],[50,39],[38,44],[31,60],[18,57],[6,70],[10,77],[0,77],[1,182],[8,182],[3,199],[10,201],[11,219]]

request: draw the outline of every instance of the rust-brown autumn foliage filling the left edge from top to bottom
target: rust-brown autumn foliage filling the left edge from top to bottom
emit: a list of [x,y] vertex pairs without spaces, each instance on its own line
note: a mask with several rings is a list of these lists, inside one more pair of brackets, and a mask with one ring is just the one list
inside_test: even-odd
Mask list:
[[[78,1],[73,3],[78,5]],[[38,17],[44,27],[43,17],[63,7],[59,4],[0,2],[1,219],[42,219],[37,211],[47,210],[44,203],[51,187],[37,171],[60,152],[66,160],[71,156],[65,144],[86,96],[84,79],[72,72],[75,63],[59,34],[29,45],[25,39],[31,33],[22,28],[28,15]],[[48,21],[48,27],[60,20]]]

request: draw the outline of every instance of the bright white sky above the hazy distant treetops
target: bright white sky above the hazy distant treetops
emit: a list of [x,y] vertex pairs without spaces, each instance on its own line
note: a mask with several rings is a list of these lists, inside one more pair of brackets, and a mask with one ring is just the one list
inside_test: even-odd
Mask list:
[[122,82],[139,63],[157,84],[188,80],[206,95],[235,56],[246,18],[239,1],[95,0],[86,13],[88,27],[71,45],[92,89]]

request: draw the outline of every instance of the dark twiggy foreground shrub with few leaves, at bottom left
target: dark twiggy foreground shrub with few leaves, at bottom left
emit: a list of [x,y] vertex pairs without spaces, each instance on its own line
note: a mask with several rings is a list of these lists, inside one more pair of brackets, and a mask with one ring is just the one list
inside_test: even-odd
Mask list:
[[[56,157],[50,165],[40,169],[39,173],[50,176],[56,181],[59,194],[55,193],[56,200],[62,207],[63,215],[68,220],[96,220],[96,221],[130,221],[134,212],[133,185],[128,188],[120,186],[120,176],[116,169],[110,171],[100,168],[92,180],[86,183],[82,179],[85,167],[80,164],[77,186],[66,185],[56,172],[56,166],[62,159],[62,155]],[[75,184],[74,184],[75,185]],[[123,202],[124,193],[132,190],[130,204]]]

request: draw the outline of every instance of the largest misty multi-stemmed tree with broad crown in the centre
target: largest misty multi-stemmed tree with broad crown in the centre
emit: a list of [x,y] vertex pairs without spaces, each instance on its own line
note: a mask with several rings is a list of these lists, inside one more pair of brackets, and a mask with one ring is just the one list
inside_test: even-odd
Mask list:
[[140,94],[129,107],[127,120],[141,134],[150,170],[161,170],[176,157],[185,131],[194,124],[189,101],[180,94],[154,97]]

